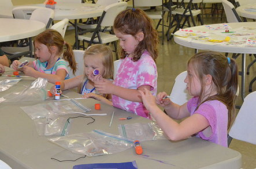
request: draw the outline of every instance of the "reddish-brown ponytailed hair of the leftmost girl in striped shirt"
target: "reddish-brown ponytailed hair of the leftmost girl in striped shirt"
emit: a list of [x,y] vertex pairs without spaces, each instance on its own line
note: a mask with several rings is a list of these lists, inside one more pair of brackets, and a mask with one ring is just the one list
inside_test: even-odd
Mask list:
[[57,30],[53,30],[53,29],[44,30],[44,32],[38,34],[38,36],[35,37],[33,41],[34,45],[36,41],[38,43],[46,45],[50,53],[51,53],[52,46],[57,47],[59,55],[63,53],[64,45],[66,45],[66,50],[63,53],[63,59],[68,61],[69,67],[71,67],[71,69],[73,70],[73,74],[75,74],[77,63],[75,60],[73,49],[71,45],[69,45],[64,41],[63,37]]

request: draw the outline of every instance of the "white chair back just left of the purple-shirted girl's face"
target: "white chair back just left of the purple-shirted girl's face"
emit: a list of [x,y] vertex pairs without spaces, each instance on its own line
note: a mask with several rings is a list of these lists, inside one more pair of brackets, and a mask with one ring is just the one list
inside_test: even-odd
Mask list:
[[170,97],[172,97],[170,100],[178,105],[183,105],[192,98],[192,96],[188,94],[186,86],[187,84],[184,82],[186,76],[187,71],[181,72],[179,75],[177,75],[170,93]]

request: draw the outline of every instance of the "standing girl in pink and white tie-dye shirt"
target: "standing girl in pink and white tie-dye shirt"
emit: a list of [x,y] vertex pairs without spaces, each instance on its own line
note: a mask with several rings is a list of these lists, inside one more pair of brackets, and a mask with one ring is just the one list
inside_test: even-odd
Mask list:
[[116,17],[114,33],[121,46],[116,78],[112,83],[101,75],[95,76],[96,90],[112,94],[112,102],[101,99],[102,102],[151,119],[138,91],[148,89],[157,94],[157,30],[143,10],[127,9]]

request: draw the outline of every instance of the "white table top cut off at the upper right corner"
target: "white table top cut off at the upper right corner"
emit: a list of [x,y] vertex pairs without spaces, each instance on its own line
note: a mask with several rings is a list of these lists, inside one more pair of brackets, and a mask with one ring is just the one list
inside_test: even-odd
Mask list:
[[[248,9],[250,6],[253,6],[254,9]],[[247,9],[248,11],[245,11],[244,9]],[[239,16],[241,17],[256,19],[256,3],[239,6],[236,8],[236,11],[238,11]]]

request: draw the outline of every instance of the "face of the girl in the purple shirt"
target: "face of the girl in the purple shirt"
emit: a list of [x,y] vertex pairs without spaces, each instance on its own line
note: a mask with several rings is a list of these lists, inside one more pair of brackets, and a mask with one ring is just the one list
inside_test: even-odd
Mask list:
[[201,93],[201,82],[194,70],[187,70],[188,74],[184,80],[187,83],[188,94],[192,96],[199,96]]

